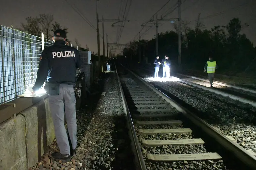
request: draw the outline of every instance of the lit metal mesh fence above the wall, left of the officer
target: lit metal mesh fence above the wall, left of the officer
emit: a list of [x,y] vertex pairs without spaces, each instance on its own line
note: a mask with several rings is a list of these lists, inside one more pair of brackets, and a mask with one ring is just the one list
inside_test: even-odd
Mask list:
[[[53,42],[45,40],[45,47]],[[35,83],[42,39],[0,25],[0,104],[21,95]]]

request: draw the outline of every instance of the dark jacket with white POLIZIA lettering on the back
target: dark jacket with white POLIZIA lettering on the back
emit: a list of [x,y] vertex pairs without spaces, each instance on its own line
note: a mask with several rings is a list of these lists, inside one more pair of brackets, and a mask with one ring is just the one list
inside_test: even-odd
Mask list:
[[65,45],[64,41],[56,41],[42,51],[33,90],[40,89],[46,78],[48,83],[74,85],[76,83],[75,72],[80,66],[78,50]]

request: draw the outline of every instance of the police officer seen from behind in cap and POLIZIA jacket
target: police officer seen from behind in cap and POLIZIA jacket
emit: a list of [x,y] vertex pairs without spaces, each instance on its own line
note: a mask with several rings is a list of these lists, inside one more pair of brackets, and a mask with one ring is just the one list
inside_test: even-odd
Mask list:
[[[45,90],[49,94],[49,106],[60,149],[60,153],[52,153],[52,157],[63,162],[70,161],[77,146],[74,85],[76,83],[76,69],[81,66],[78,50],[65,45],[65,39],[64,30],[58,29],[54,32],[53,41],[55,43],[42,51],[42,58],[33,87],[33,91],[37,91],[47,79]],[[64,108],[73,149],[71,151],[64,127]]]

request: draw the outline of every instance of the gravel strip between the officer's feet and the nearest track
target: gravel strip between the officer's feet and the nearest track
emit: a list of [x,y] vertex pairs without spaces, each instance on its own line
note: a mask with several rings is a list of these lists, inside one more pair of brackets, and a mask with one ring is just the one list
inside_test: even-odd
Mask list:
[[[78,147],[70,162],[51,159],[51,152],[58,150],[54,141],[50,152],[43,156],[33,170],[62,169],[122,169],[133,166],[128,129],[123,112],[116,74],[105,74],[104,92],[100,98],[90,99],[85,109],[77,111]],[[94,96],[95,98],[95,96]]]

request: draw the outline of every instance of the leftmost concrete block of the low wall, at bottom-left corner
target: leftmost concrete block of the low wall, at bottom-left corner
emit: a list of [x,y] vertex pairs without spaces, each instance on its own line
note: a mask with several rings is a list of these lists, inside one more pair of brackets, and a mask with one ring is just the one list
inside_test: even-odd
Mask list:
[[26,170],[26,129],[22,115],[0,125],[0,169]]

